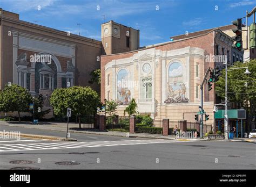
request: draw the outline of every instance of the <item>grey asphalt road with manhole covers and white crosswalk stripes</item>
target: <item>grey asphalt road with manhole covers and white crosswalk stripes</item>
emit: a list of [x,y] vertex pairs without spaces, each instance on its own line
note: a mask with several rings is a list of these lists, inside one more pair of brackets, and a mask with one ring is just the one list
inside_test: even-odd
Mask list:
[[[19,131],[18,127],[4,129]],[[64,132],[21,130],[30,131],[65,136]],[[78,141],[1,139],[0,169],[255,169],[256,166],[253,142],[146,140],[82,133],[71,133],[72,136]],[[32,163],[12,162],[19,160]]]

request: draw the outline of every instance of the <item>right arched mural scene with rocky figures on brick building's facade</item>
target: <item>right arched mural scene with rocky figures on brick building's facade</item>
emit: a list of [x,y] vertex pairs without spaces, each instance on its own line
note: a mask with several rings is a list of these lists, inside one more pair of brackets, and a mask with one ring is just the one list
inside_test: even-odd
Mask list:
[[167,99],[165,103],[187,103],[186,85],[183,83],[182,66],[174,62],[169,67],[169,77],[167,81]]

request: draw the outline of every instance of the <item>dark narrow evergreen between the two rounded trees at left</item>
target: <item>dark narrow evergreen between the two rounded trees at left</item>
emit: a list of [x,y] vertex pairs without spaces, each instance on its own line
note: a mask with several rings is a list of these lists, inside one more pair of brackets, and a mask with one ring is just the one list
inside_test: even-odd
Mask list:
[[[42,94],[39,94],[37,98],[33,98],[33,103],[35,104],[35,118],[40,119],[45,116],[45,114],[48,114],[51,110],[47,109],[43,111],[44,106],[44,97]],[[33,114],[33,110],[30,110],[30,113]]]

